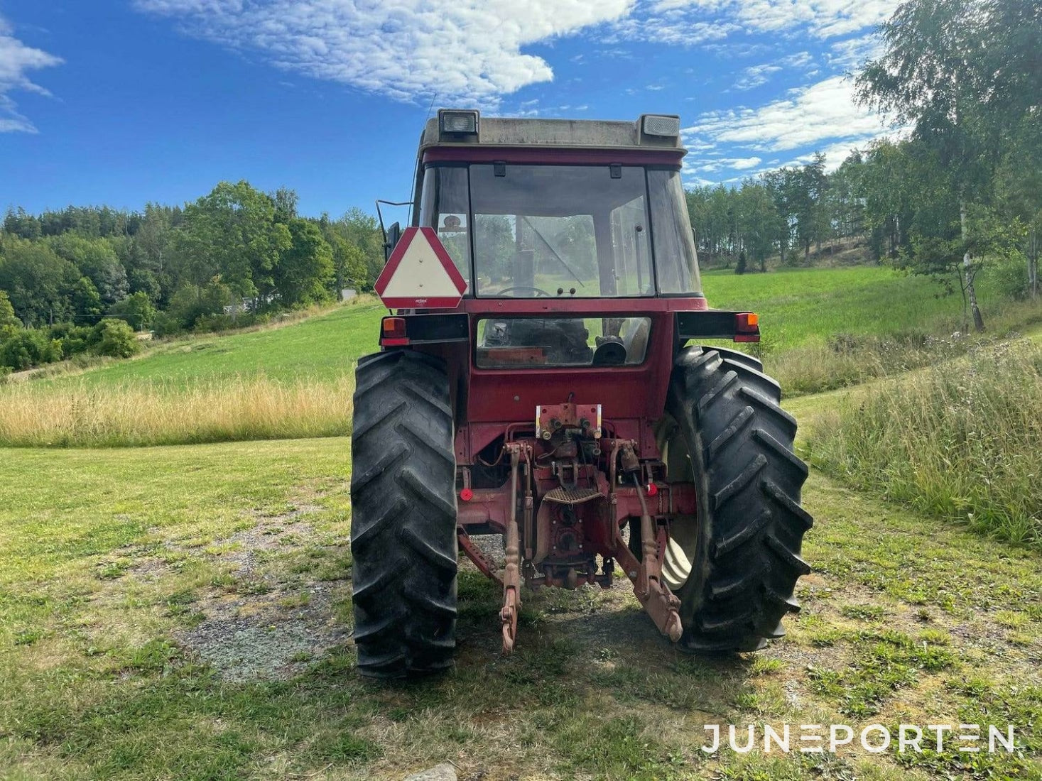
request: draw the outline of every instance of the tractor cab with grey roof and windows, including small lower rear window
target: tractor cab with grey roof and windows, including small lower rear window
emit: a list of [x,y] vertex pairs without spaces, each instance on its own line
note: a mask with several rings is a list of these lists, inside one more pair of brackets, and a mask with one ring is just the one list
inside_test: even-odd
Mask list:
[[[476,112],[442,111],[421,141],[416,220],[437,231],[467,297],[540,298],[556,307],[701,296],[678,118],[645,117],[636,125],[535,121],[523,145],[504,146],[519,144],[511,133],[518,122],[532,121],[482,123]],[[652,141],[642,145],[642,137]],[[485,368],[635,366],[644,361],[650,332],[644,317],[476,325],[477,364]]]

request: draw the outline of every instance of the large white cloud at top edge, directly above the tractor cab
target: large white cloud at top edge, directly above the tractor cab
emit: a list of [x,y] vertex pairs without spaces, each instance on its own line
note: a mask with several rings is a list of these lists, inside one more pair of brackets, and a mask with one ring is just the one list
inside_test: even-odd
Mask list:
[[495,104],[553,79],[522,47],[618,20],[634,0],[137,0],[278,68],[398,100]]

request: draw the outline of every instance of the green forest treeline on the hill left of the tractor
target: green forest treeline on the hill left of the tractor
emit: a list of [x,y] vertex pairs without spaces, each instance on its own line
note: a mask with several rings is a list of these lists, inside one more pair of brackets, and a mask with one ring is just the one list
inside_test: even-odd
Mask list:
[[221,330],[330,302],[371,286],[382,245],[376,220],[359,209],[304,218],[293,191],[262,193],[245,181],[221,182],[183,207],[9,209],[0,232],[0,371],[126,355],[134,330]]

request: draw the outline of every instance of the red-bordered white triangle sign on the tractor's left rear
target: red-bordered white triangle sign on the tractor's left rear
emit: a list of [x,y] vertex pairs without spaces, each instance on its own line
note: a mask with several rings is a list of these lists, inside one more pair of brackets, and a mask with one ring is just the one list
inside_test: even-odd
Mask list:
[[433,228],[405,228],[373,288],[389,309],[454,309],[467,282]]

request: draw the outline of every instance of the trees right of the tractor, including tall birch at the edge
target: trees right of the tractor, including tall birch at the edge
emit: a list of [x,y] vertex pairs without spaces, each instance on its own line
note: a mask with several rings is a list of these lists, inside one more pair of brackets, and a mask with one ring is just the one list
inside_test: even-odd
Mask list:
[[1013,295],[1039,295],[1042,233],[1042,4],[911,0],[880,26],[883,52],[857,75],[858,99],[899,132],[834,172],[803,166],[739,187],[688,193],[700,255],[736,270],[798,263],[864,242],[875,258],[962,293],[1004,261]]

